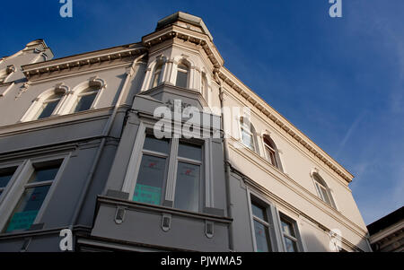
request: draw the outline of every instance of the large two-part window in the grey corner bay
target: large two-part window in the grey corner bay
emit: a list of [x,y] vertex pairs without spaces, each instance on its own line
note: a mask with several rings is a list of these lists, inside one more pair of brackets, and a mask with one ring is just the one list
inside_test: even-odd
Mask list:
[[[175,168],[170,173],[169,163]],[[201,144],[146,135],[132,200],[162,205],[165,190],[170,188],[174,192],[174,208],[198,212],[202,198],[202,165]]]

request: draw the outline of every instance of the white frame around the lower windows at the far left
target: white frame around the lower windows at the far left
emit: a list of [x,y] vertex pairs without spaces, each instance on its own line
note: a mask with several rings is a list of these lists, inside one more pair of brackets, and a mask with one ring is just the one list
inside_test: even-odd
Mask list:
[[[66,164],[70,158],[71,154],[56,154],[56,155],[50,155],[46,157],[38,157],[38,158],[32,158],[28,160],[23,160],[20,161],[20,166],[19,168],[14,172],[13,179],[10,180],[9,184],[7,185],[6,189],[6,195],[0,197],[0,216],[6,217],[4,219],[0,219],[0,233],[5,234],[3,232],[5,230],[5,226],[7,225],[7,222],[9,221],[11,214],[13,213],[16,205],[22,198],[23,192],[25,191],[25,188],[27,187],[33,187],[35,185],[33,184],[28,184],[28,181],[31,179],[32,173],[35,171],[35,164],[38,163],[46,163],[46,162],[54,162],[54,161],[60,161],[60,166],[59,170],[57,170],[57,175],[53,181],[51,182],[48,194],[45,197],[42,205],[40,206],[40,211],[38,212],[35,220],[32,222],[32,224],[37,224],[40,223],[42,216],[46,209],[48,208],[48,203],[53,196],[53,193],[55,189],[57,188],[58,182],[61,179],[61,176],[63,175],[63,171],[66,168]],[[5,165],[2,165],[2,167]],[[9,166],[9,165],[7,165]],[[40,182],[40,186],[43,185],[44,182]],[[11,232],[13,233],[13,232]],[[19,232],[17,232],[19,233]],[[9,234],[9,233],[7,233]]]

